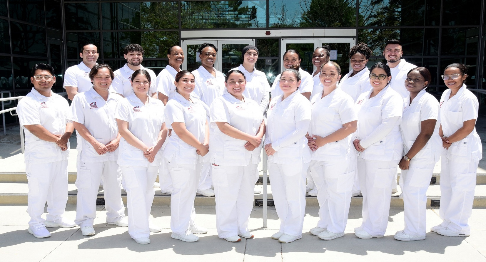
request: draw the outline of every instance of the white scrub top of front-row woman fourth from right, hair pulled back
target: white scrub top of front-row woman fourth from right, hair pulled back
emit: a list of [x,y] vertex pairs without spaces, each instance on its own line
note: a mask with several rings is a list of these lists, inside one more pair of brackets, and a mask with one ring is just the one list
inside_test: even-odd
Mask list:
[[[314,96],[311,101],[312,118],[309,135],[328,136],[343,127],[343,124],[358,120],[353,99],[340,88],[329,95]],[[354,147],[351,148],[351,137],[328,143],[312,152],[312,160],[317,161],[351,161],[356,158]],[[352,150],[351,150],[352,149]]]

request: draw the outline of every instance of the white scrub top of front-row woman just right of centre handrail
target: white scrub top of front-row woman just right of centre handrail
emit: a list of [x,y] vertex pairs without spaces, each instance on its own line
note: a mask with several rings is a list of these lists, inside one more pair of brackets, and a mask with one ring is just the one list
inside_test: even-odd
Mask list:
[[285,145],[282,140],[296,130],[296,122],[311,120],[311,103],[296,90],[282,101],[282,97],[272,98],[267,111],[267,132],[263,145],[272,144],[277,150],[268,161],[276,164],[290,164],[296,161],[311,162],[311,149],[307,146],[305,134]]

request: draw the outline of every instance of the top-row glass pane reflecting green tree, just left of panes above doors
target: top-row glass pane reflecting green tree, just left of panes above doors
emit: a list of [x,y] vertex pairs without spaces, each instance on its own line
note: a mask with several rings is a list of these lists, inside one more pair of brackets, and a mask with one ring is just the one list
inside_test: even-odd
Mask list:
[[142,2],[140,12],[142,29],[179,28],[179,4],[177,2]]

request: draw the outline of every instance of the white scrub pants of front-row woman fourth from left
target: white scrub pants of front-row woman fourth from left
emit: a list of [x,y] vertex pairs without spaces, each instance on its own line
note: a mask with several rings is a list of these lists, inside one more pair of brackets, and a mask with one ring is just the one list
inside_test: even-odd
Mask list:
[[182,235],[190,226],[195,225],[194,198],[203,163],[177,164],[175,157],[172,160],[164,159],[164,162],[167,163],[174,187],[171,197],[171,229]]

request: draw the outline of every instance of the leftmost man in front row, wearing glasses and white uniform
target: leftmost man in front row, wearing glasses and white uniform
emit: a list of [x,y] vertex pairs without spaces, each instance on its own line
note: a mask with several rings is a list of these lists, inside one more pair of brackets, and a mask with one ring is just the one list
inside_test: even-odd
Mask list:
[[[68,101],[51,91],[54,68],[40,63],[32,68],[32,91],[18,102],[20,126],[25,130],[25,172],[29,194],[29,233],[49,237],[46,227],[75,227],[63,218],[68,202],[69,137]],[[41,218],[47,201],[47,221]]]

